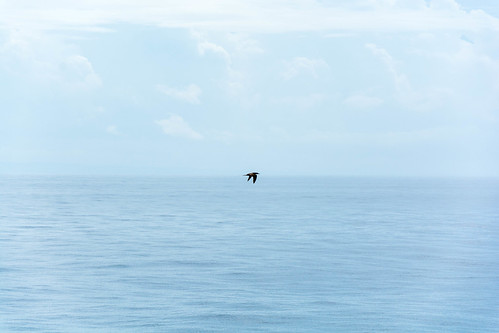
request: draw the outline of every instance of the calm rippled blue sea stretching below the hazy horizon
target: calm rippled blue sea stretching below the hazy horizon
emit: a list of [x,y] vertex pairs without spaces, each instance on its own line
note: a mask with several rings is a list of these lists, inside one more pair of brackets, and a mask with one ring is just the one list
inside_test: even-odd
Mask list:
[[499,181],[0,177],[1,332],[499,332]]

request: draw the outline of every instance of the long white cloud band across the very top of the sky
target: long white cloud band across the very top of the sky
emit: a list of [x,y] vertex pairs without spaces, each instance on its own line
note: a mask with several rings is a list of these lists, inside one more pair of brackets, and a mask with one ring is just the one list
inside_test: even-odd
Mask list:
[[463,10],[455,0],[47,0],[5,1],[0,25],[33,29],[95,29],[117,23],[210,31],[499,30],[499,20],[481,10]]

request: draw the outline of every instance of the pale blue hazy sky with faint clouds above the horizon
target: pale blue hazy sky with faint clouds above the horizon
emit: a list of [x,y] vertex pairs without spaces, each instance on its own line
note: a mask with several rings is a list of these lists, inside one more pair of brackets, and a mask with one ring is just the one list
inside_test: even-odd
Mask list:
[[495,0],[0,0],[0,174],[499,177]]

